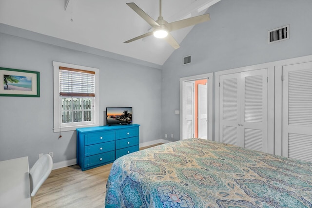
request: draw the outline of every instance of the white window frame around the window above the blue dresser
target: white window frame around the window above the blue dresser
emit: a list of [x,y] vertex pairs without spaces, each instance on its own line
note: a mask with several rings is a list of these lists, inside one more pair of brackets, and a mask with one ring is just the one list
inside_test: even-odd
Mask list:
[[[83,128],[83,127],[93,127],[99,126],[99,78],[98,68],[86,67],[86,66],[79,66],[75,64],[69,63],[62,63],[57,61],[52,61],[53,66],[53,108],[54,108],[54,132],[66,132],[66,131],[74,131],[76,128]],[[80,69],[85,71],[92,71],[95,72],[95,97],[94,97],[94,108],[93,108],[93,122],[90,121],[78,122],[77,125],[74,123],[69,123],[67,125],[62,125],[61,119],[61,96],[59,95],[59,67],[67,67],[73,69]],[[83,97],[83,96],[82,96]]]

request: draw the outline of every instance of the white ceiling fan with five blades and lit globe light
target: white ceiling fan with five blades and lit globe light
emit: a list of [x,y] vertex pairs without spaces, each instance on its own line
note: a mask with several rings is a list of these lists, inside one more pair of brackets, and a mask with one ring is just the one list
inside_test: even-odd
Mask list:
[[154,35],[156,38],[164,38],[174,49],[179,48],[179,44],[176,42],[175,38],[170,34],[171,31],[175,31],[184,27],[189,27],[201,22],[210,20],[209,14],[199,15],[193,18],[182,19],[179,21],[168,23],[161,16],[161,0],[159,0],[159,17],[157,20],[151,18],[146,14],[140,7],[135,3],[127,3],[131,9],[133,9],[141,18],[143,18],[149,25],[152,26],[153,30],[151,32],[145,33],[136,38],[125,41],[124,43],[129,43],[141,38],[145,38]]

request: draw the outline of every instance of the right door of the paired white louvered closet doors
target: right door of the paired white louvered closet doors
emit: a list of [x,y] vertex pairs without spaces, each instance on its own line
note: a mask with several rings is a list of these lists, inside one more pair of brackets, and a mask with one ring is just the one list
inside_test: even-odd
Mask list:
[[267,152],[268,144],[268,82],[267,69],[241,73],[242,120],[244,141],[241,147]]

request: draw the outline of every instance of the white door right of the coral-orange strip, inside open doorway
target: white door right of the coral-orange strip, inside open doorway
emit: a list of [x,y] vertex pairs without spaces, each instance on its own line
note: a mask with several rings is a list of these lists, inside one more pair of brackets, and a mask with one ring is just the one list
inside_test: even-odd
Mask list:
[[207,84],[198,84],[198,138],[207,139]]

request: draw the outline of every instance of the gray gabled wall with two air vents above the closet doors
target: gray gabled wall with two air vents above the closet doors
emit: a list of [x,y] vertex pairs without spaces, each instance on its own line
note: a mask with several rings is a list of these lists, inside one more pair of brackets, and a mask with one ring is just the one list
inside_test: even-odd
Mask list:
[[[221,0],[163,65],[162,137],[180,138],[179,78],[312,55],[311,0]],[[290,24],[290,39],[268,44],[267,31]],[[183,66],[183,57],[192,63]]]

